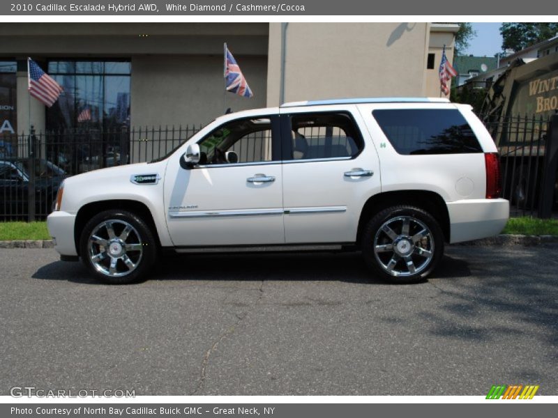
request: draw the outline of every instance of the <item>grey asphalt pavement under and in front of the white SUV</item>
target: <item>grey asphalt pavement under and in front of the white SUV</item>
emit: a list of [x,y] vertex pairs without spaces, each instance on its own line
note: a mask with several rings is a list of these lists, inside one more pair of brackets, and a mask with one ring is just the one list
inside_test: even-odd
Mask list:
[[0,250],[0,394],[558,394],[558,246],[449,247],[426,283],[356,254],[166,259],[105,286],[53,249]]

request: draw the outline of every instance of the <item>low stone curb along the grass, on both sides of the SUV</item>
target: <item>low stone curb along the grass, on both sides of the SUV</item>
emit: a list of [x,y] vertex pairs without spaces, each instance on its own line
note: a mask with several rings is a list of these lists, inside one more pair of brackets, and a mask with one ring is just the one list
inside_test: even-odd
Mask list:
[[[481,240],[458,242],[453,245],[474,245],[489,246],[499,245],[501,247],[513,247],[515,245],[523,245],[532,247],[534,245],[558,244],[558,235],[511,235],[502,234],[495,237],[483,238]],[[2,248],[54,248],[52,240],[12,240],[0,241],[0,249]]]

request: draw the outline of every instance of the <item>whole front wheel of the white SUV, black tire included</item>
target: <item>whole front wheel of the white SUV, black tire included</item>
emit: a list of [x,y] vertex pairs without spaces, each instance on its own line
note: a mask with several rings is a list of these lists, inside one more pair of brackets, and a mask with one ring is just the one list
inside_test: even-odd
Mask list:
[[[126,239],[122,240],[126,229]],[[80,256],[96,279],[106,284],[130,284],[146,279],[158,256],[157,241],[141,217],[126,210],[105,210],[85,225]]]

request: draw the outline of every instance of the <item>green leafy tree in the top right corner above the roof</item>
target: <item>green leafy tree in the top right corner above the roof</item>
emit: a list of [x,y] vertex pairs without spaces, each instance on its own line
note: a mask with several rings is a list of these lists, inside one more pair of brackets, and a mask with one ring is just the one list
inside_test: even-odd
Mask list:
[[502,23],[502,26],[500,26],[500,33],[502,34],[502,50],[512,49],[513,52],[518,52],[521,49],[556,36],[558,34],[558,23],[507,22]]

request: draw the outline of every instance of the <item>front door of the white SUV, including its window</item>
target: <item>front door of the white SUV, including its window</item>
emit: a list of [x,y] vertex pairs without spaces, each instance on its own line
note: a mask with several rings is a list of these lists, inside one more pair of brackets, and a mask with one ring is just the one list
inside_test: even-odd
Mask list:
[[[174,245],[285,242],[278,118],[242,118],[198,141],[196,167],[173,155],[165,174],[167,225]],[[181,167],[182,165],[182,167]]]

